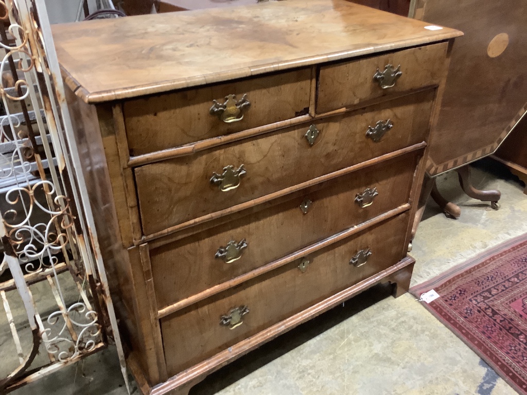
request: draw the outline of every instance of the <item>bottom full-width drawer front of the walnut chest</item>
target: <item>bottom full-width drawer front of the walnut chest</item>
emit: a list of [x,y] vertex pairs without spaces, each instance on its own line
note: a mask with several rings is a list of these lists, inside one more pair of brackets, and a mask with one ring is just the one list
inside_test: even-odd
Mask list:
[[[408,219],[406,212],[311,254],[302,270],[302,260],[291,262],[161,319],[169,376],[396,264],[405,256]],[[239,307],[249,313],[236,326],[233,312],[229,324],[229,312]]]

